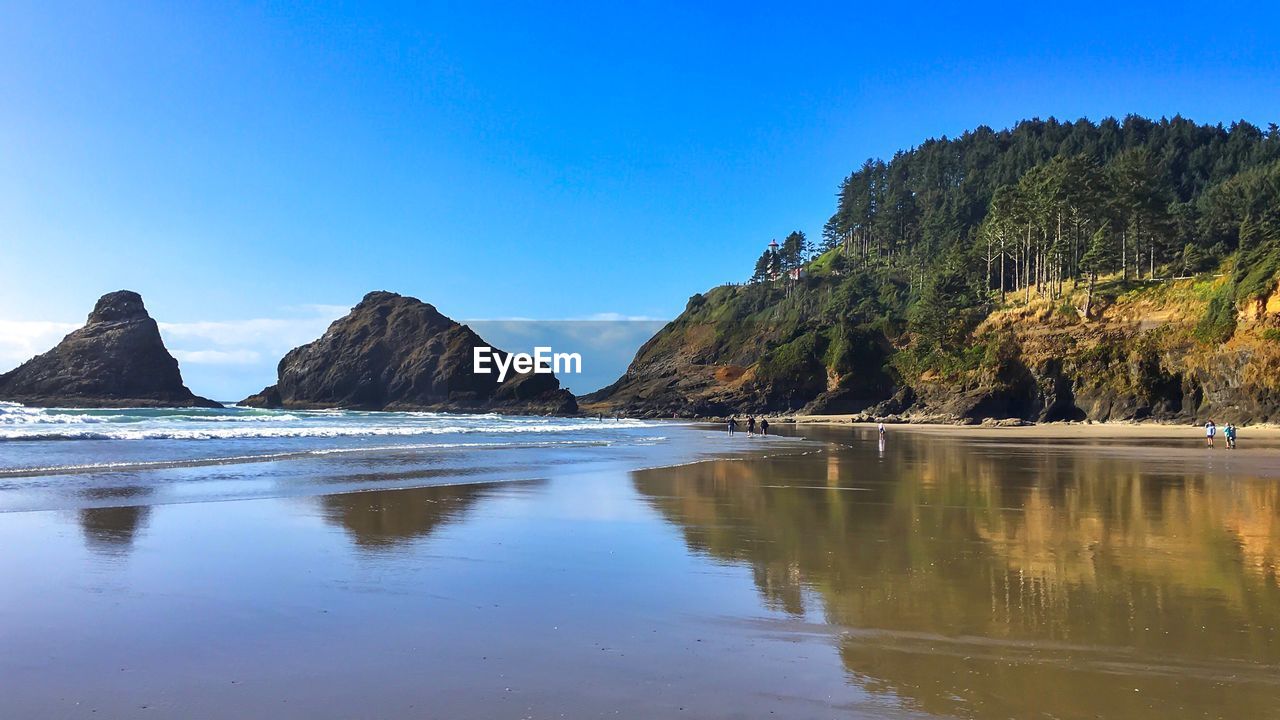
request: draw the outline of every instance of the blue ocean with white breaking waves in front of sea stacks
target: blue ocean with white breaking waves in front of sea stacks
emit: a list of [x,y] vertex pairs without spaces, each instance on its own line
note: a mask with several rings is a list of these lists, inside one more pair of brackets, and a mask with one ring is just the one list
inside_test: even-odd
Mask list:
[[[0,511],[202,502],[530,479],[550,465],[680,461],[675,423],[0,402]],[[685,450],[680,450],[684,446]]]

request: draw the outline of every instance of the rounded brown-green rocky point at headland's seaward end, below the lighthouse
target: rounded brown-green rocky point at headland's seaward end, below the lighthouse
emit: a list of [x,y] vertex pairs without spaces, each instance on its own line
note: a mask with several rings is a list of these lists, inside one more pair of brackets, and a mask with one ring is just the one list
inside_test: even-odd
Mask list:
[[[808,307],[818,292],[723,286],[636,352],[613,384],[584,396],[591,411],[705,418],[735,413],[854,413],[886,400],[893,380],[884,336],[831,323]],[[858,366],[858,372],[841,368]]]

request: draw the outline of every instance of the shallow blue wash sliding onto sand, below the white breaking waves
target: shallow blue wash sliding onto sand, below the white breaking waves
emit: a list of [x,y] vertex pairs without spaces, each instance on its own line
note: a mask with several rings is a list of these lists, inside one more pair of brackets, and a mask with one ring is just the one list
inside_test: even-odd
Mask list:
[[[448,419],[424,421],[443,424],[449,432],[434,434],[429,430],[442,428],[424,425],[422,433],[403,437],[0,441],[0,515],[485,486],[750,461],[817,447],[800,438],[710,442],[719,439],[713,427],[660,420],[635,427],[579,420],[532,434],[494,421],[490,434],[481,437],[452,429]],[[38,452],[32,455],[31,448]]]

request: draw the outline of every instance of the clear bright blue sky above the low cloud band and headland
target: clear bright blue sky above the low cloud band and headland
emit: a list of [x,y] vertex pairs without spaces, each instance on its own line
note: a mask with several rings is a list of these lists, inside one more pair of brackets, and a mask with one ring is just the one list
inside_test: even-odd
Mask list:
[[1280,122],[1277,32],[1274,3],[9,1],[0,334],[116,288],[227,328],[374,288],[671,318],[927,137]]

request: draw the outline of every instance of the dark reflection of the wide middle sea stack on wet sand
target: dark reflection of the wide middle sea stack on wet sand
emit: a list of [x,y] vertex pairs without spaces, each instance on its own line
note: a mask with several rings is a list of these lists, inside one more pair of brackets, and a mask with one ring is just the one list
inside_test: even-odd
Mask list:
[[438,486],[326,495],[320,502],[325,519],[356,544],[378,548],[426,537],[488,492],[479,484]]

